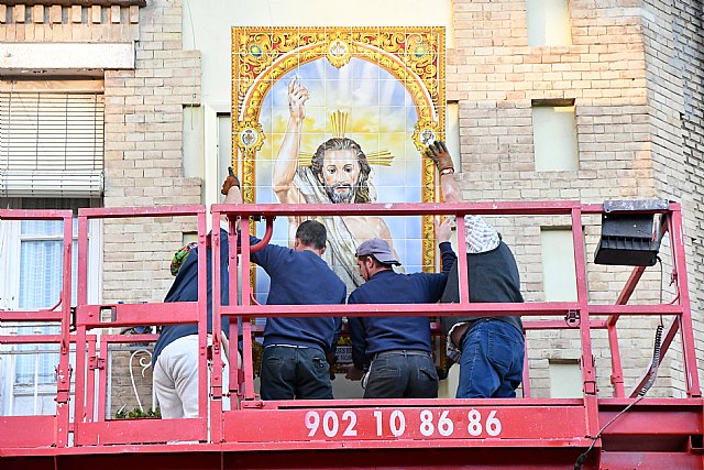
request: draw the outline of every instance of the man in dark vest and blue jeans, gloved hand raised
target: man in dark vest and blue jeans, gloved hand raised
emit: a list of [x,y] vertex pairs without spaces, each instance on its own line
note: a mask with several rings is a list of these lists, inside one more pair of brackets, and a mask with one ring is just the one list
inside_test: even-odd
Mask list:
[[[452,157],[443,142],[426,151],[440,173],[448,203],[461,203]],[[496,229],[480,216],[465,216],[465,251],[470,302],[520,303],[516,259]],[[460,302],[458,263],[452,266],[440,302]],[[515,397],[524,370],[525,339],[518,316],[442,317],[448,359],[460,363],[458,398]]]

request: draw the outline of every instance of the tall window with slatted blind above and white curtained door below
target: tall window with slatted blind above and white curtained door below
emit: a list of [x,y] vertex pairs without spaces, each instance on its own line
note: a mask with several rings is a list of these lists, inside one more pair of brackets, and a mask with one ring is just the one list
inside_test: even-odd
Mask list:
[[[100,206],[103,171],[102,79],[0,80],[0,198],[9,209]],[[88,299],[99,302],[101,226],[88,227]],[[77,273],[74,220],[73,278]],[[0,220],[0,309],[58,303],[63,222]],[[72,304],[75,305],[76,283]],[[55,334],[58,325],[3,323],[0,335]],[[0,346],[0,415],[53,414],[57,345]]]

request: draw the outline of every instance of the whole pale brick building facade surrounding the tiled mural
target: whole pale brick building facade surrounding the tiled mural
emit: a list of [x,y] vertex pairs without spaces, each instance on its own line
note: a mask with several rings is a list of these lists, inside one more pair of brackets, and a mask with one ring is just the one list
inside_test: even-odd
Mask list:
[[[50,207],[34,204],[37,199],[59,200],[66,208],[217,203],[232,155],[232,25],[320,26],[338,18],[340,26],[444,26],[447,139],[455,149],[464,199],[682,203],[696,346],[704,358],[704,294],[697,288],[704,282],[701,1],[455,0],[433,2],[433,11],[422,2],[403,1],[365,2],[364,8],[314,1],[305,11],[274,1],[45,3],[0,6],[1,122],[14,129],[18,103],[24,109],[33,99],[35,114],[44,116],[51,102],[45,98],[63,96],[62,122],[82,130],[84,118],[74,119],[73,112],[80,99],[92,97],[87,129],[100,134],[101,128],[103,140],[96,144],[92,139],[90,154],[75,161],[57,154],[54,162],[42,160],[38,151],[18,153],[6,132],[3,207]],[[365,13],[371,10],[378,10],[372,24]],[[66,131],[62,142],[73,142],[76,133]],[[44,145],[38,138],[33,142],[36,149]],[[36,175],[50,166],[48,182],[21,177],[21,172]],[[79,183],[72,183],[72,174],[82,175]],[[569,220],[492,222],[517,255],[528,302],[574,298]],[[584,227],[590,295],[614,303],[629,270],[592,263],[598,222],[585,219]],[[22,228],[16,230],[13,237],[21,243]],[[173,278],[170,258],[193,239],[196,225],[186,218],[106,220],[95,230],[96,302],[161,302]],[[6,228],[4,233],[10,238],[12,232]],[[22,287],[9,282],[9,266],[16,262],[8,256],[0,262],[4,298],[20,298]],[[634,303],[661,295],[670,299],[668,264],[666,259],[662,271],[646,272]],[[42,302],[48,300],[36,299]],[[627,390],[650,363],[658,323],[650,317],[619,323]],[[597,385],[608,395],[608,341],[605,334],[593,339]],[[579,384],[576,391],[560,386],[565,376],[579,375],[578,332],[530,332],[528,350],[534,396],[581,394]],[[651,392],[656,396],[684,393],[676,348],[668,356]],[[0,360],[4,414],[20,406],[20,398],[10,398],[19,383],[37,385],[18,379],[20,371],[31,375],[34,365],[11,362],[7,354]],[[113,409],[133,406],[125,402],[129,393],[119,392],[122,385],[129,389],[121,380],[125,374],[123,367],[113,371]],[[344,393],[354,395],[353,390]],[[451,385],[446,393],[452,395]]]

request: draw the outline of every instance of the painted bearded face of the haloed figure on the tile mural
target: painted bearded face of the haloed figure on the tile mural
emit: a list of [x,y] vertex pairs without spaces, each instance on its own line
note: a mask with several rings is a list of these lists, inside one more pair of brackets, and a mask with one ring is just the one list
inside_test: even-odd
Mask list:
[[326,193],[333,204],[354,201],[360,183],[360,162],[352,150],[328,150],[322,161]]

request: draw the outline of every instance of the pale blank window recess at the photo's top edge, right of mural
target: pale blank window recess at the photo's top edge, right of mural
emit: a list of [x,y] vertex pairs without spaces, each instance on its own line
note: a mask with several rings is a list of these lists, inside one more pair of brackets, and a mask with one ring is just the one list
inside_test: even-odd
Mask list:
[[526,0],[529,46],[569,46],[570,6],[568,0]]

